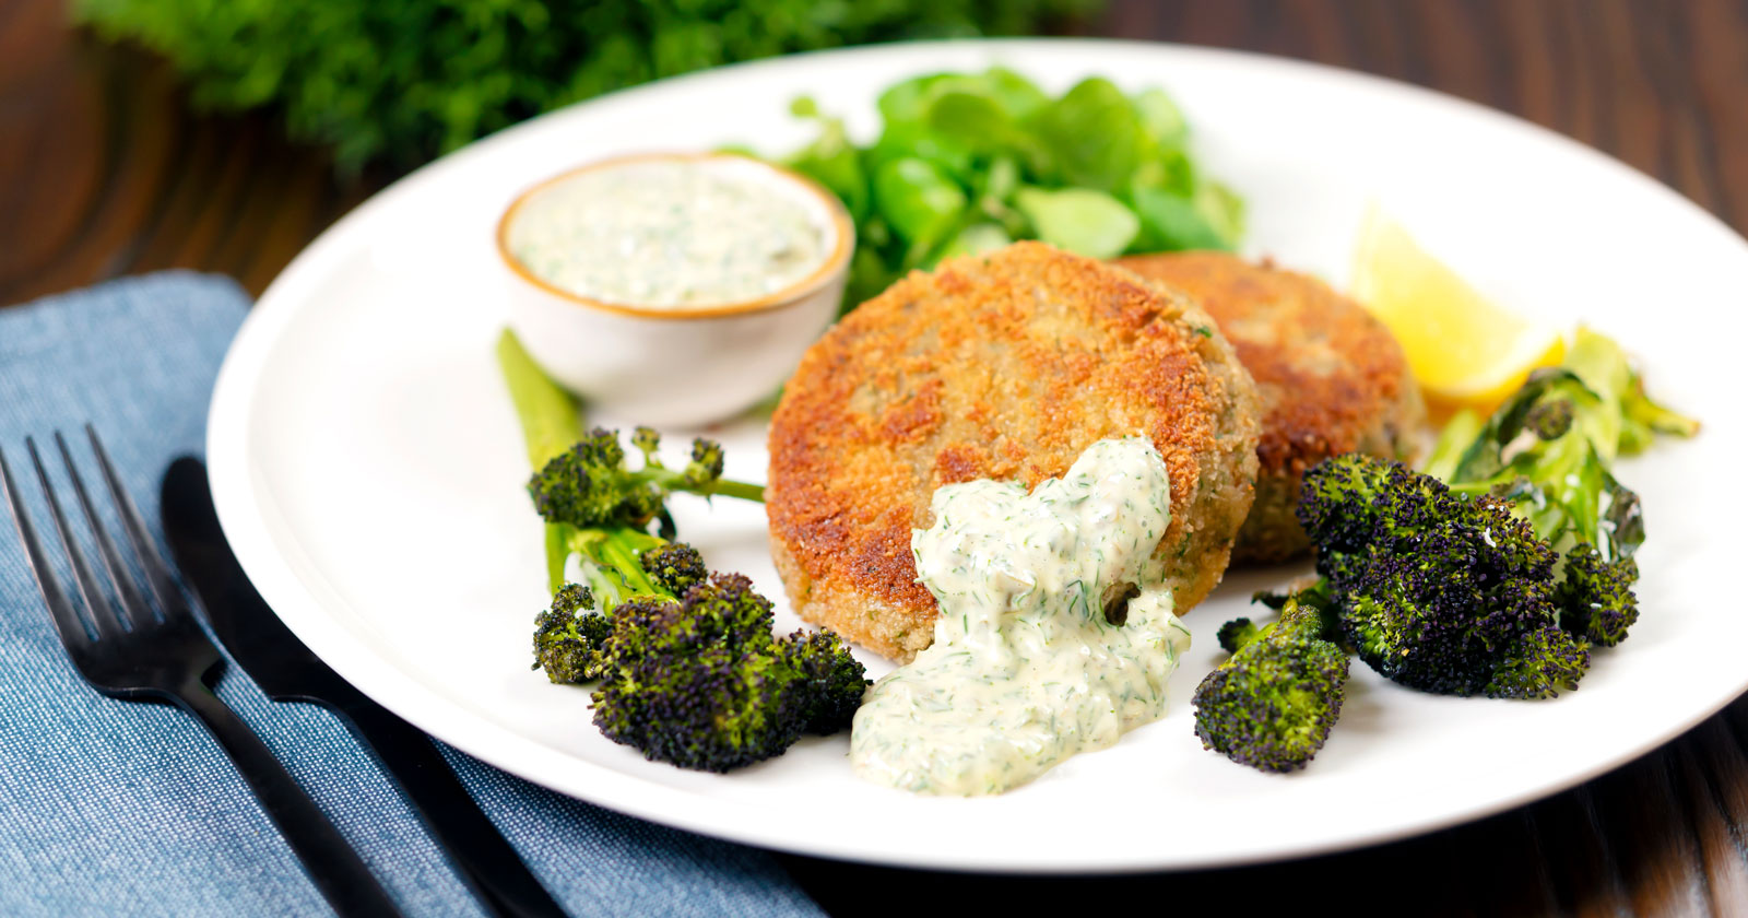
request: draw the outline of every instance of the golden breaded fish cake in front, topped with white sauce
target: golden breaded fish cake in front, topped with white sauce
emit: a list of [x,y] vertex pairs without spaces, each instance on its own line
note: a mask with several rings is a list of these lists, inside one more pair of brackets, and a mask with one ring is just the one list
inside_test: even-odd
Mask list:
[[1157,556],[1182,612],[1225,572],[1257,395],[1189,297],[1042,243],[912,273],[802,357],[771,420],[771,549],[801,617],[909,661],[933,642],[911,530],[942,484],[1028,488],[1147,435],[1171,474]]

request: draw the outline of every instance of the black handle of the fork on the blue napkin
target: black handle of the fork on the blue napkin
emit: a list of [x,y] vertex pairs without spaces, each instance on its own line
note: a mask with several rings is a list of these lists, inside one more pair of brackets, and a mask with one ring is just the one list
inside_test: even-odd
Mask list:
[[[292,852],[302,860],[309,880],[336,913],[355,916],[399,916],[400,909],[383,887],[365,869],[351,845],[322,815],[309,794],[292,778],[285,766],[260,741],[248,724],[218,699],[205,684],[171,692],[185,712],[192,713],[213,734],[213,740],[231,755],[236,769],[248,782],[260,806],[280,827]],[[427,743],[428,745],[428,743]]]

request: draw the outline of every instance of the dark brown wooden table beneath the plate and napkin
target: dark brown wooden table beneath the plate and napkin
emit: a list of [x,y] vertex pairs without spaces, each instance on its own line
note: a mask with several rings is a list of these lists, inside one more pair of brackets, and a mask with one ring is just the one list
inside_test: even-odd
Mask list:
[[[1745,0],[1110,0],[1079,31],[1432,86],[1617,156],[1738,229],[1748,220]],[[0,304],[161,268],[220,271],[259,294],[386,178],[336,180],[269,117],[189,114],[161,65],[68,30],[59,0],[0,0]],[[834,915],[1748,915],[1748,701],[1575,790],[1334,857],[1092,880],[785,862]]]

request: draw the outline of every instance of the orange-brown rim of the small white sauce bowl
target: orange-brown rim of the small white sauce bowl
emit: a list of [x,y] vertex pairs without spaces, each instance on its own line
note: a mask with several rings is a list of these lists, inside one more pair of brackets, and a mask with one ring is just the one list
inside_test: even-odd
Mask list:
[[[524,266],[521,262],[521,259],[517,259],[516,255],[510,254],[509,241],[507,241],[509,240],[509,231],[510,231],[510,222],[516,219],[516,212],[521,210],[521,206],[524,203],[528,203],[528,199],[531,199],[533,196],[540,194],[542,191],[545,191],[545,189],[549,189],[549,187],[552,187],[552,185],[556,185],[559,182],[565,182],[565,180],[573,178],[577,175],[582,175],[586,171],[603,170],[603,168],[610,168],[610,166],[624,166],[628,163],[643,163],[643,161],[652,161],[652,159],[687,159],[687,161],[736,159],[736,161],[752,163],[752,164],[755,164],[755,166],[759,166],[762,170],[767,170],[773,177],[776,177],[780,180],[792,182],[794,185],[801,187],[802,191],[806,191],[808,194],[811,194],[813,198],[816,198],[822,205],[825,205],[825,213],[827,213],[827,217],[830,220],[830,226],[832,226],[832,240],[830,240],[832,248],[830,248],[830,252],[825,255],[825,259],[820,262],[820,266],[816,269],[813,269],[813,273],[809,273],[808,276],[797,280],[795,283],[790,283],[788,287],[783,287],[781,290],[774,290],[774,292],[766,294],[766,296],[757,297],[757,299],[731,301],[731,303],[715,303],[715,304],[710,304],[710,306],[696,306],[696,308],[682,308],[682,306],[636,306],[636,304],[628,304],[628,303],[612,303],[612,301],[605,301],[605,299],[586,297],[586,296],[575,294],[572,290],[566,290],[563,287],[552,285],[552,283],[549,283],[545,280],[540,280],[538,276],[533,275],[533,271],[528,269],[528,266]],[[503,217],[498,217],[498,231],[495,234],[495,243],[498,247],[498,259],[502,259],[503,264],[512,273],[516,273],[517,276],[521,276],[524,282],[528,282],[528,283],[531,283],[531,285],[535,285],[535,287],[538,287],[538,289],[542,289],[542,290],[545,290],[545,292],[549,292],[552,296],[558,296],[561,299],[568,299],[568,301],[572,301],[572,303],[575,303],[579,306],[589,306],[589,308],[601,309],[601,311],[607,311],[607,313],[615,313],[615,315],[624,315],[624,316],[635,316],[635,318],[659,318],[659,320],[661,318],[668,318],[668,320],[687,318],[687,320],[690,320],[690,318],[732,318],[732,316],[739,316],[739,315],[746,315],[746,313],[759,313],[759,311],[767,311],[767,309],[776,309],[776,308],[787,306],[787,304],[790,304],[790,303],[794,303],[794,301],[797,301],[797,299],[811,294],[813,290],[823,287],[827,283],[827,280],[830,280],[832,275],[836,275],[837,271],[841,271],[850,262],[850,254],[855,248],[855,238],[857,238],[855,224],[850,220],[850,212],[844,210],[843,201],[839,201],[836,194],[832,194],[830,191],[827,191],[823,185],[820,185],[813,178],[808,178],[806,175],[801,175],[801,173],[797,173],[794,170],[787,170],[783,166],[774,166],[774,164],[766,163],[762,159],[755,159],[755,157],[741,156],[741,154],[731,154],[731,152],[647,152],[647,154],[629,154],[629,156],[614,156],[614,157],[608,157],[608,159],[598,159],[594,163],[587,163],[587,164],[577,166],[573,170],[561,171],[561,173],[558,173],[558,175],[554,175],[551,178],[545,178],[545,180],[542,180],[542,182],[538,182],[538,184],[524,189],[521,194],[516,196],[514,201],[510,201],[510,206],[503,208]]]

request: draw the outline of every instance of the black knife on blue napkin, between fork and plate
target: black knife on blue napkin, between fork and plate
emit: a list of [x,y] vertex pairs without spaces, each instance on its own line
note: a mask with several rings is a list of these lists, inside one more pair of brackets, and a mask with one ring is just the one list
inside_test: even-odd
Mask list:
[[194,586],[213,633],[274,701],[311,701],[339,715],[400,783],[461,880],[496,916],[558,916],[558,908],[516,855],[425,733],[371,701],[322,663],[255,593],[218,528],[206,467],[178,458],[164,472],[164,535]]

